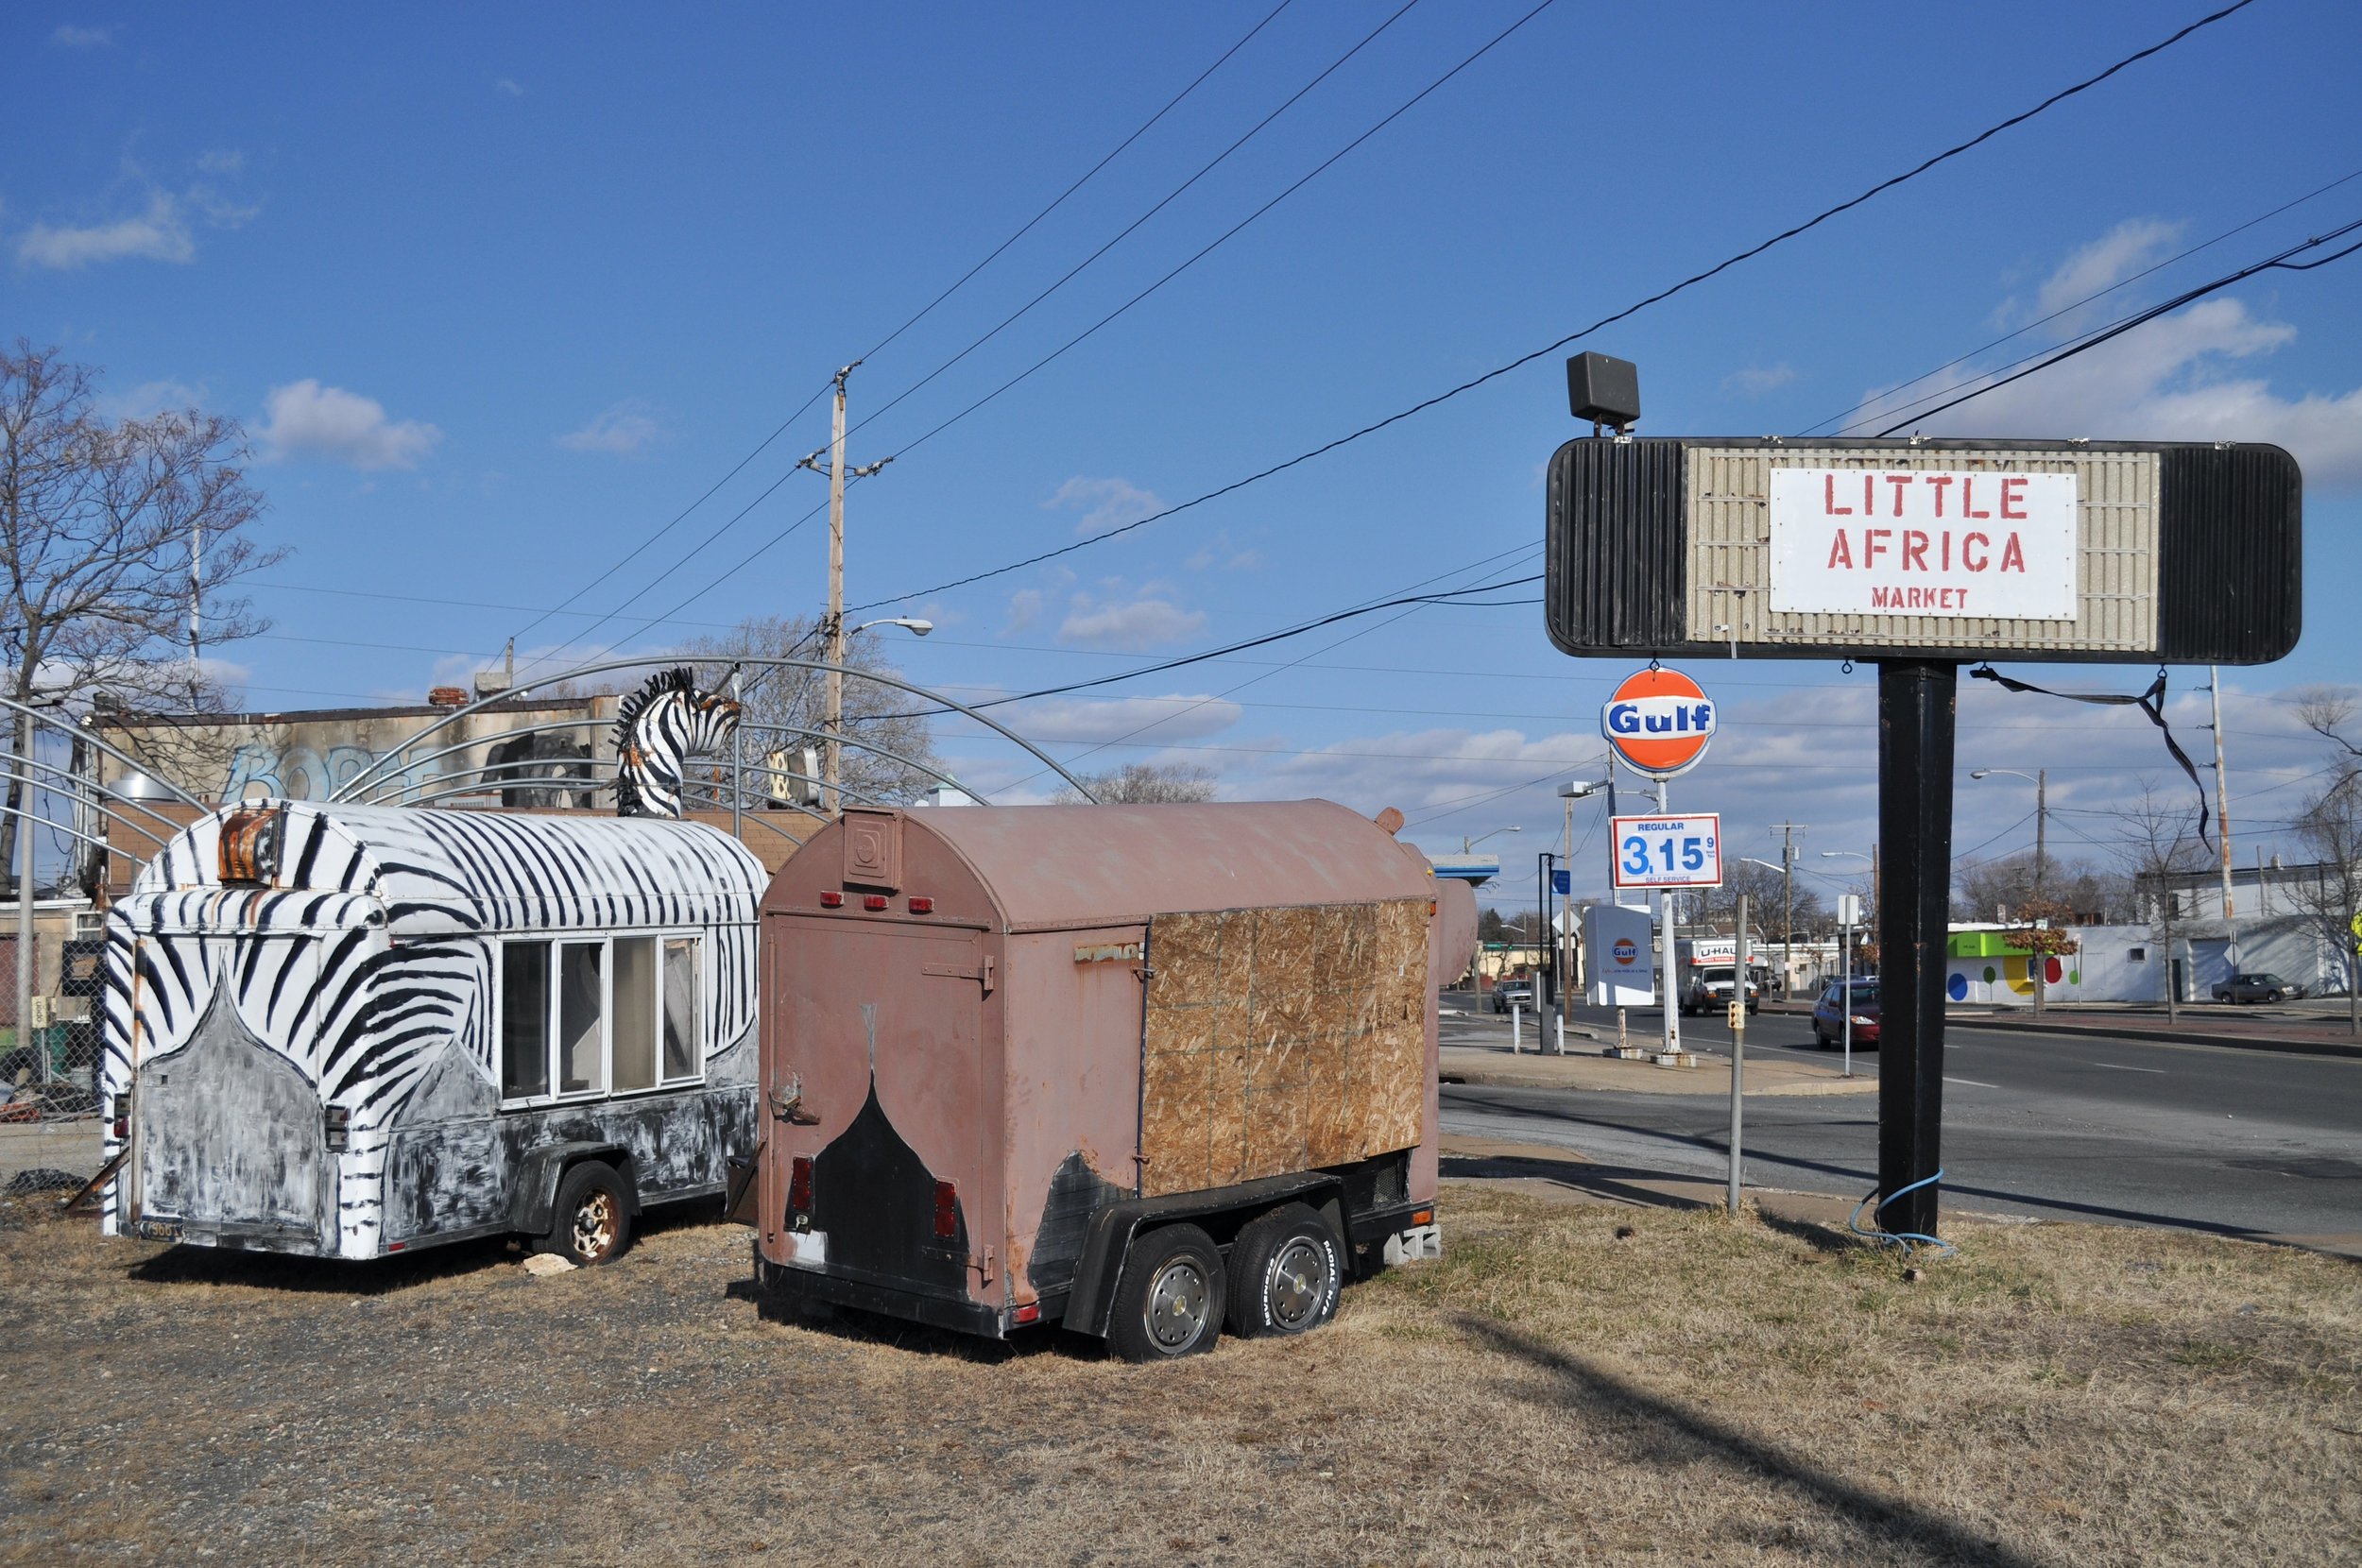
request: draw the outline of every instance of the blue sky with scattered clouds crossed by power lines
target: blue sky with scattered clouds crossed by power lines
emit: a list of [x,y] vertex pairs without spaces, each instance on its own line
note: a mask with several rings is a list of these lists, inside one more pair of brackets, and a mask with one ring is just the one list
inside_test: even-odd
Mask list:
[[[0,19],[0,331],[106,371],[118,411],[241,418],[267,638],[250,706],[416,701],[524,631],[536,671],[824,600],[824,498],[794,458],[827,375],[1098,163],[1275,0],[1172,7],[139,7]],[[1398,5],[1398,0],[1396,0]],[[853,437],[848,593],[886,600],[1072,543],[1526,354],[2157,43],[2199,5],[1599,7],[1559,0],[1079,347],[935,425],[1131,300],[1361,137],[1533,0],[1422,0],[1030,314]],[[853,416],[968,347],[1394,12],[1297,0],[990,267],[876,352]],[[1831,224],[1601,333],[1656,435],[1802,432],[2362,170],[2362,9],[2260,0]],[[2362,179],[1972,357],[2362,217]],[[2317,746],[2286,694],[2355,685],[2362,257],[2265,274],[2114,349],[1968,404],[1968,435],[2282,442],[2308,472],[2308,633],[2225,673],[2239,857],[2282,848]],[[1559,357],[1384,435],[926,614],[905,671],[1006,694],[1535,569],[1540,472],[1573,435]],[[723,524],[742,508],[744,517]],[[699,548],[716,529],[720,536]],[[784,536],[782,536],[784,534]],[[770,548],[765,541],[772,541]],[[671,574],[654,586],[657,571]],[[666,623],[600,619],[671,614]],[[567,614],[539,619],[569,595]],[[1519,595],[1507,595],[1519,597]],[[676,609],[678,607],[678,609]],[[879,635],[879,633],[872,633]],[[893,635],[893,633],[886,633]],[[1214,767],[1233,796],[1401,805],[1410,836],[1557,836],[1597,777],[1623,664],[1540,607],[1368,616],[1006,708],[1084,767]],[[1807,822],[1868,848],[1873,680],[1696,671],[1727,732],[1677,801],[1746,852]],[[2138,690],[2147,671],[2020,671]],[[2204,723],[2178,671],[2178,725]],[[2138,716],[1963,682],[1960,765],[2048,767],[2053,843],[2097,855],[2140,779]],[[2194,751],[2206,737],[2182,730]],[[1108,744],[1117,741],[1117,744]],[[1011,751],[940,744],[983,789]],[[2027,786],[1960,782],[1963,852],[2031,843]],[[1578,838],[1585,819],[1578,817]],[[2251,831],[2253,827],[2253,831]],[[2081,841],[2081,843],[2079,843]],[[1599,860],[1599,841],[1583,864]],[[1604,862],[1601,862],[1604,864]],[[1505,878],[1493,895],[1531,890]]]

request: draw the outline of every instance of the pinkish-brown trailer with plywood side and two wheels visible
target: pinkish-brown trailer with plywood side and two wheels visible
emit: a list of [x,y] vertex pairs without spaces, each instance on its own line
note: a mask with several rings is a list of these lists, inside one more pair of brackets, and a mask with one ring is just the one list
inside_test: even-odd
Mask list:
[[1438,1254],[1434,971],[1472,909],[1398,822],[848,808],[763,897],[765,1292],[1148,1360]]

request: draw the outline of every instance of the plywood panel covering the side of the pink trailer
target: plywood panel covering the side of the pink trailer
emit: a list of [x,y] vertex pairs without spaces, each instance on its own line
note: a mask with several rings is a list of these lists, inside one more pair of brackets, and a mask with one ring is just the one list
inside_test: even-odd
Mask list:
[[1162,914],[1148,966],[1148,1195],[1420,1143],[1424,900]]

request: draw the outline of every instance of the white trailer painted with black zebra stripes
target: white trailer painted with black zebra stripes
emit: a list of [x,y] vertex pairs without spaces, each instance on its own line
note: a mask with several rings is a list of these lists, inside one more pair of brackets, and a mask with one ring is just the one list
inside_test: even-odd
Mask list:
[[213,812],[106,916],[106,1230],[614,1256],[753,1145],[763,886],[690,822]]

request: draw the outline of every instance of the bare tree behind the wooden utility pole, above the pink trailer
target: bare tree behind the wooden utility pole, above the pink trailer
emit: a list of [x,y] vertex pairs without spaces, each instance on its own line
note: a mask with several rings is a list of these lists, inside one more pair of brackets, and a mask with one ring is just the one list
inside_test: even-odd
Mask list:
[[[697,638],[683,645],[685,659],[706,664],[763,656],[763,659],[820,659],[824,640],[820,621],[810,616],[749,616],[725,633]],[[846,645],[846,666],[900,675],[902,671],[886,656],[876,635],[853,638]],[[720,690],[720,671],[706,668],[704,678]],[[770,796],[768,772],[758,772],[765,758],[784,753],[789,772],[805,772],[803,749],[820,746],[820,720],[824,716],[827,690],[820,671],[779,666],[749,666],[744,675],[744,727],[746,727],[746,779],[742,782],[742,805],[761,805]],[[839,775],[855,803],[860,801],[916,801],[933,784],[942,763],[928,734],[924,699],[876,680],[846,680],[846,749]],[[853,744],[862,741],[862,744]],[[895,760],[909,758],[907,763]],[[916,763],[916,767],[912,765]],[[720,805],[727,810],[727,784],[720,789]]]

